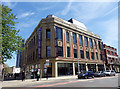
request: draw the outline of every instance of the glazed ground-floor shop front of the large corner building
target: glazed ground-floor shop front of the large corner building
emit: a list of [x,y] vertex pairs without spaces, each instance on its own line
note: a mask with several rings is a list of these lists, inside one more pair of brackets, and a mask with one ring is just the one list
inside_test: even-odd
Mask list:
[[104,63],[89,63],[89,62],[69,62],[69,61],[50,61],[49,67],[46,67],[45,62],[27,66],[25,71],[36,72],[40,70],[41,76],[59,77],[59,76],[75,76],[81,71],[104,71]]

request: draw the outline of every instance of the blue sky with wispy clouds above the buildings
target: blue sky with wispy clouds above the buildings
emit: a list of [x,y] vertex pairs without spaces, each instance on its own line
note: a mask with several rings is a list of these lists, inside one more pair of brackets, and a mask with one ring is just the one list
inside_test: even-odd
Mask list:
[[[4,2],[17,15],[17,29],[27,39],[42,18],[53,14],[64,20],[74,18],[85,24],[89,31],[98,34],[107,45],[118,50],[117,2]],[[16,55],[7,61],[16,65]]]

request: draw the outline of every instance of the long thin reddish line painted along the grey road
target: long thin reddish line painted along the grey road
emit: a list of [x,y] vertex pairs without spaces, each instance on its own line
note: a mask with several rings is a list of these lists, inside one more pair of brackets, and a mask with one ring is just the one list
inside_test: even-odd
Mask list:
[[[118,77],[118,76],[114,76]],[[100,78],[93,78],[93,79],[85,79],[85,80],[76,80],[76,81],[68,81],[68,82],[62,82],[62,83],[54,83],[54,84],[48,84],[48,85],[40,85],[36,87],[50,87],[50,86],[56,86],[56,85],[63,85],[63,84],[69,84],[69,83],[76,83],[76,82],[82,82],[82,81],[90,81],[90,80],[97,80],[97,79],[108,79],[108,78],[114,78],[114,77],[100,77]]]

